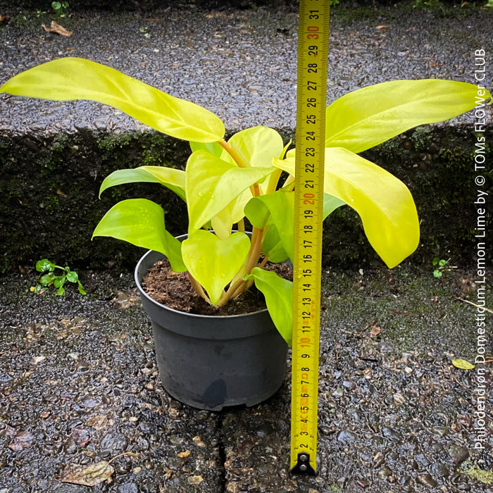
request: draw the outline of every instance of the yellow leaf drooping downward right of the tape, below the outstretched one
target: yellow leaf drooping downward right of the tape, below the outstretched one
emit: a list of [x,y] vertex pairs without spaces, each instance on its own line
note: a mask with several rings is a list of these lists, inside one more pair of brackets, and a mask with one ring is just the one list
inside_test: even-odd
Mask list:
[[[294,175],[294,158],[275,160]],[[418,247],[416,205],[406,185],[388,171],[340,147],[325,149],[324,191],[358,212],[368,241],[389,266]]]

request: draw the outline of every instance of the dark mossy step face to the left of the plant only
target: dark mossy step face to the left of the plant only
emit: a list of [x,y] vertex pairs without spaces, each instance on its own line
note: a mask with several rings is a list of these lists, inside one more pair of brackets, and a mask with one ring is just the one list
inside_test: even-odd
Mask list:
[[186,225],[185,204],[154,184],[114,187],[99,200],[99,186],[116,169],[183,162],[185,148],[154,132],[0,135],[0,272],[32,268],[44,257],[74,268],[132,268],[142,249],[115,239],[91,241],[104,213],[120,199],[145,196],[168,211],[166,226],[178,234]]

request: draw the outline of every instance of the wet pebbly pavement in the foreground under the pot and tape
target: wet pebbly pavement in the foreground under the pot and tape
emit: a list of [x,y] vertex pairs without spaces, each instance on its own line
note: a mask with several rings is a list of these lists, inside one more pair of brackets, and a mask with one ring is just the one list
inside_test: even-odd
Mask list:
[[[1,493],[493,492],[478,370],[451,363],[475,358],[474,273],[324,273],[316,478],[289,473],[289,370],[252,408],[182,405],[160,385],[131,276],[80,275],[87,297],[1,280]],[[101,461],[114,471],[92,489],[63,482]]]

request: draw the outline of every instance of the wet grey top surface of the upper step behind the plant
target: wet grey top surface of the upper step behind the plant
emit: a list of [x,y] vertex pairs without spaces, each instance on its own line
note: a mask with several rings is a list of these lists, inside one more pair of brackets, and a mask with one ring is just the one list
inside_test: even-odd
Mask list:
[[[9,14],[4,10],[0,15]],[[49,23],[49,16],[19,11],[12,9],[10,22],[0,24],[0,82],[54,58],[81,56],[205,106],[223,118],[228,131],[254,125],[294,128],[297,13],[292,9],[189,5],[146,15],[74,12],[58,19],[73,31],[70,37],[44,32],[41,24]],[[493,51],[491,11],[334,8],[327,101],[398,78],[474,82],[474,51]],[[489,65],[486,80],[491,75]],[[9,96],[0,96],[0,102],[1,131],[139,128],[120,111],[96,103]],[[461,121],[471,121],[470,116]]]

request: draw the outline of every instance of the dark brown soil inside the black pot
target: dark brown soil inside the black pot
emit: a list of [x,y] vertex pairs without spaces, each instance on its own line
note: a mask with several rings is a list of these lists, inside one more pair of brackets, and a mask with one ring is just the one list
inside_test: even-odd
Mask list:
[[[292,279],[292,269],[284,264],[268,264],[266,269],[274,270],[286,279]],[[263,294],[254,286],[239,297],[231,299],[226,306],[212,306],[196,294],[188,274],[173,272],[167,259],[154,264],[144,276],[142,287],[158,303],[197,315],[241,315],[267,308]]]

